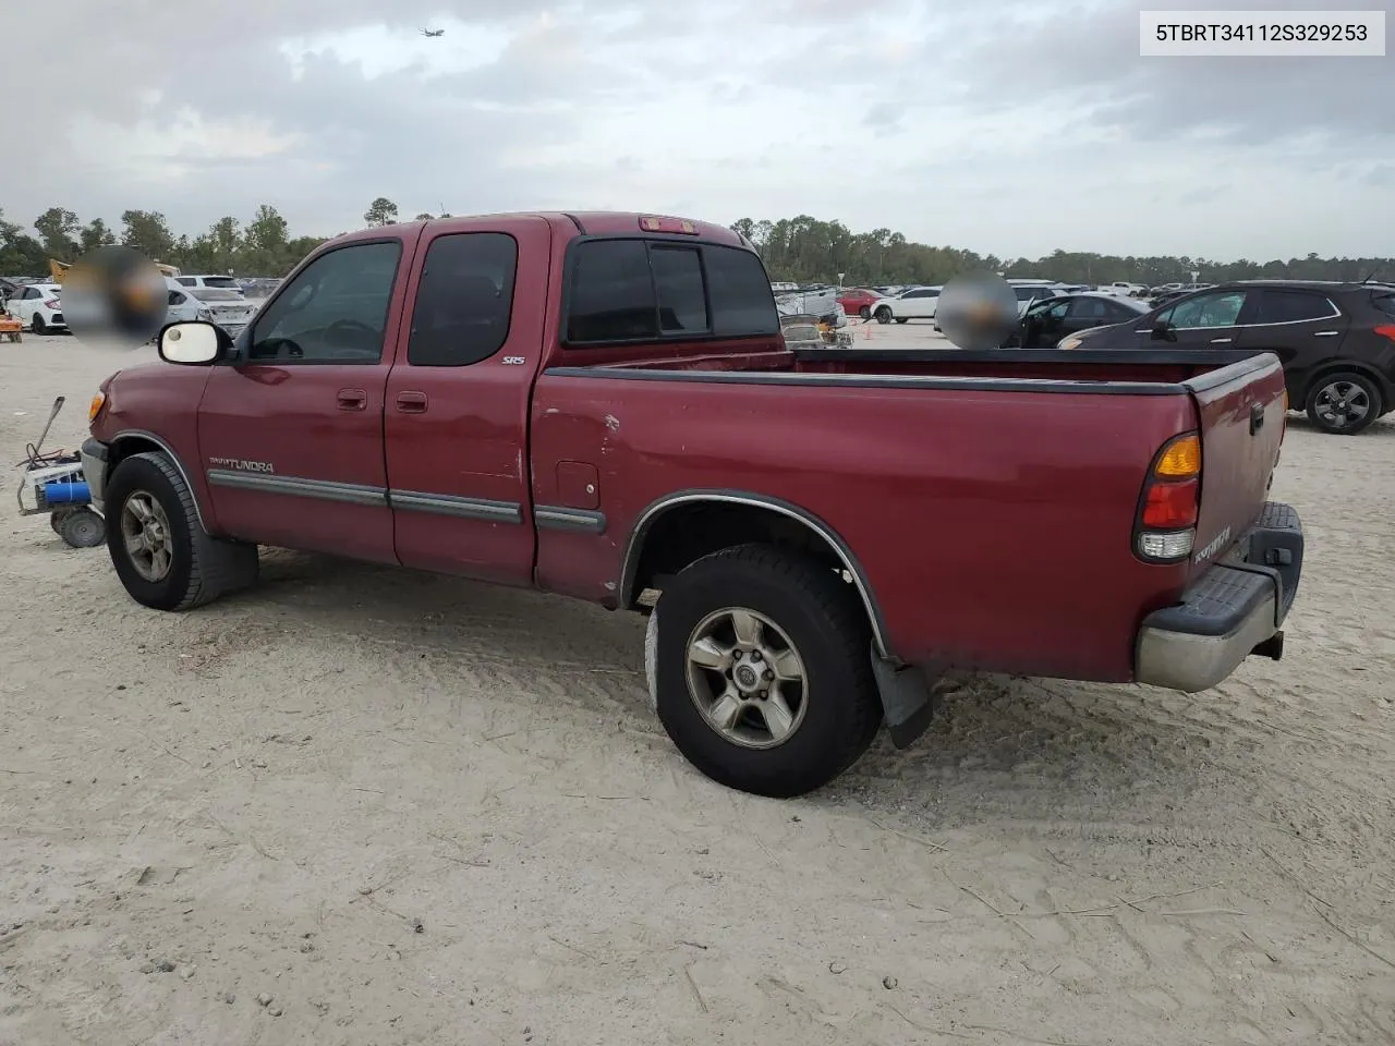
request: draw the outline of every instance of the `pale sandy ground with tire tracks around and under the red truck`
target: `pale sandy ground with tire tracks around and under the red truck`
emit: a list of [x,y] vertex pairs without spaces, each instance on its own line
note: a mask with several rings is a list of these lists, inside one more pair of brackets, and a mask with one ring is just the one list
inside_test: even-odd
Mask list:
[[[8,459],[119,363],[0,344]],[[681,760],[635,616],[290,552],[165,615],[11,508],[0,1043],[1395,1042],[1395,424],[1275,494],[1281,664],[963,681],[795,802]]]

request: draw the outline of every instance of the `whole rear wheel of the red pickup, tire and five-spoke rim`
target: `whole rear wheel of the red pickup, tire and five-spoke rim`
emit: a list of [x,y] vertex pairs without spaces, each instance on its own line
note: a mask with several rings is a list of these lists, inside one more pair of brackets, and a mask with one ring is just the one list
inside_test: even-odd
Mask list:
[[718,784],[802,795],[882,725],[866,616],[824,565],[766,545],[714,552],[665,586],[653,625],[658,718]]

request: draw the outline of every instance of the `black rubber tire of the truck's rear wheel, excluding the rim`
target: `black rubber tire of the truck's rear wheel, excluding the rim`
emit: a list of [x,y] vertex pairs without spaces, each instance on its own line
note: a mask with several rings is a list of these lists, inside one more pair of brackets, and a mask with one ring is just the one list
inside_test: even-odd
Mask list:
[[[802,711],[773,748],[723,736],[689,690],[689,637],[724,608],[769,618],[802,662]],[[688,761],[718,784],[781,799],[804,795],[852,766],[882,725],[866,614],[852,587],[826,565],[769,545],[714,552],[665,586],[654,619],[658,718]]]

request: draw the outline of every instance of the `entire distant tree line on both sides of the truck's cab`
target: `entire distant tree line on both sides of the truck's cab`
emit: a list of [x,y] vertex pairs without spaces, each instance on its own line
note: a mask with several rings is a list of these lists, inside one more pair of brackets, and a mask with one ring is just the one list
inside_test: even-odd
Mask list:
[[[449,218],[421,212],[416,220]],[[402,220],[398,205],[386,197],[374,199],[363,213],[367,226]],[[1306,258],[1212,261],[1187,257],[1117,257],[1057,250],[1042,258],[999,258],[957,247],[932,247],[908,240],[890,229],[854,233],[843,222],[820,222],[808,215],[780,220],[744,218],[731,226],[748,237],[774,280],[834,283],[844,286],[889,283],[944,283],[963,272],[988,269],[1004,276],[1038,276],[1064,283],[1189,283],[1191,273],[1205,283],[1237,279],[1362,280],[1373,273],[1395,278],[1391,258]],[[31,227],[10,222],[0,209],[0,276],[42,276],[49,258],[73,262],[107,244],[127,244],[153,261],[184,272],[218,272],[234,276],[283,276],[296,262],[325,241],[319,236],[290,234],[285,218],[269,204],[257,208],[251,220],[220,218],[195,236],[176,234],[158,211],[126,211],[112,229],[100,218],[82,222],[67,208],[52,206]]]

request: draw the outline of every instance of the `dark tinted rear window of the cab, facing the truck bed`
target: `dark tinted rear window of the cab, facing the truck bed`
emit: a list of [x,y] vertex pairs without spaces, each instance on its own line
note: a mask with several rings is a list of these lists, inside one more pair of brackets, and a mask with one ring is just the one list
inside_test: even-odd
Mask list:
[[572,248],[568,346],[778,333],[770,280],[751,251],[643,238]]

